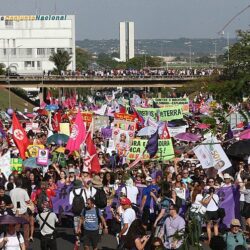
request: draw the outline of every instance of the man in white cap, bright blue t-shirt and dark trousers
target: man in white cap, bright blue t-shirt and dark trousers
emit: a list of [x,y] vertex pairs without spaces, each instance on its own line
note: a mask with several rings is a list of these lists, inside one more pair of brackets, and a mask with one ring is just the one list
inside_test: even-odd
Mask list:
[[146,178],[147,187],[142,191],[141,211],[142,220],[145,225],[153,225],[157,213],[157,199],[159,186],[153,184],[152,177]]

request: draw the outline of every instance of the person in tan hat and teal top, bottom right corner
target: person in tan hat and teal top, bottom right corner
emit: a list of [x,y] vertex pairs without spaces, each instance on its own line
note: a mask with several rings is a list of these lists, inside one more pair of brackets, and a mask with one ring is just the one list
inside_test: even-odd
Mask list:
[[227,244],[227,250],[234,250],[237,246],[244,246],[247,248],[245,236],[240,229],[240,221],[238,219],[232,219],[230,223],[230,231],[223,236]]

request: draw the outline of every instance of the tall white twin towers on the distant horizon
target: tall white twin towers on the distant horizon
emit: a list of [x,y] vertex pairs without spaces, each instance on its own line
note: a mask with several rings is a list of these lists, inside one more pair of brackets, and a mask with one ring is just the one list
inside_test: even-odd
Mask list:
[[120,61],[135,57],[135,26],[134,22],[120,22]]

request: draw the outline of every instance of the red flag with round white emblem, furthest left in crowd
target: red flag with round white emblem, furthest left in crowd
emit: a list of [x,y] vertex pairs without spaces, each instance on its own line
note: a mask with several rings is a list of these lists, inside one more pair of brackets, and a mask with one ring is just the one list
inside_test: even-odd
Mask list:
[[25,151],[29,146],[29,139],[26,135],[25,130],[18,121],[16,114],[13,113],[12,117],[12,127],[13,127],[13,140],[18,147],[20,157],[25,159]]

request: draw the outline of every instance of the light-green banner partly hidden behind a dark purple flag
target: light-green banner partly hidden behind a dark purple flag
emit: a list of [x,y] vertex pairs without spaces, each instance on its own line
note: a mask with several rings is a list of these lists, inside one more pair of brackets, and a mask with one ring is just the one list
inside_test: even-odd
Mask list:
[[[130,160],[135,160],[137,157],[139,157],[139,155],[145,151],[147,142],[148,140],[133,139],[127,158]],[[158,140],[158,151],[153,159],[163,161],[170,160],[172,158],[174,158],[172,140]],[[145,152],[143,155],[143,160],[148,159],[150,159],[149,154]]]

